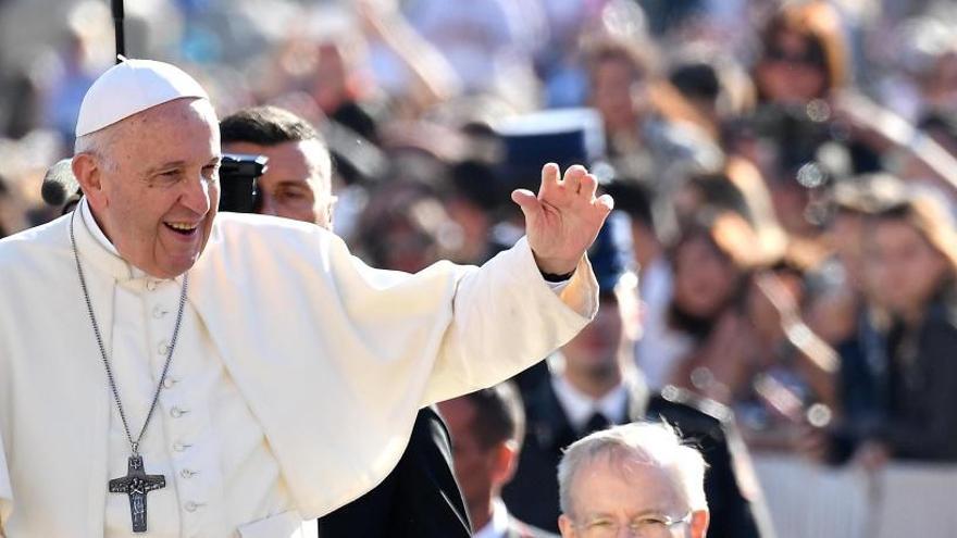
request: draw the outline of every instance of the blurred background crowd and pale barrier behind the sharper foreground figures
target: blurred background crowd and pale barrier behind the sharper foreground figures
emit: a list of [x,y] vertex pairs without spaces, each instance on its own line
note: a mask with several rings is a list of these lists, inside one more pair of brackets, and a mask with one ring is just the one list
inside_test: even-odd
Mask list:
[[[955,536],[954,2],[127,0],[126,36],[319,127],[376,266],[482,263],[511,189],[589,165],[642,301],[592,346],[734,411],[778,535]],[[0,0],[0,237],[59,215],[113,61],[104,0]]]

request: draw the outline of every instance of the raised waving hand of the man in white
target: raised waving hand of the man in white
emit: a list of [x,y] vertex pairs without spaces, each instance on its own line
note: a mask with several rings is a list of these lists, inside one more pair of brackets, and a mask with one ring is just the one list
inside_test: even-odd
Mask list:
[[526,189],[512,192],[525,214],[525,235],[538,268],[554,275],[574,271],[614,207],[608,195],[595,198],[598,182],[584,166],[569,167],[563,179],[559,175],[558,165],[548,163],[537,197]]

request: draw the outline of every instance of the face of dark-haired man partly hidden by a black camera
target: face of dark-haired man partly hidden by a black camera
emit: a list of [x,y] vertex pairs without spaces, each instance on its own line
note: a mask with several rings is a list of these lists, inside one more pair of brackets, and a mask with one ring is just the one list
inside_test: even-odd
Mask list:
[[282,216],[332,228],[331,164],[328,152],[319,140],[259,146],[250,142],[225,145],[229,153],[269,158],[259,178],[262,207],[259,213]]

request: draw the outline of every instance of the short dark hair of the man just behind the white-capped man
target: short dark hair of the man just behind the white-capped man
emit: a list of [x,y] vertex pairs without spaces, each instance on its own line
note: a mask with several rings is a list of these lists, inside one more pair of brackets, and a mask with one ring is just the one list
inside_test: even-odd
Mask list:
[[251,107],[229,114],[220,122],[222,143],[249,142],[277,146],[285,142],[320,140],[319,132],[306,120],[278,107]]

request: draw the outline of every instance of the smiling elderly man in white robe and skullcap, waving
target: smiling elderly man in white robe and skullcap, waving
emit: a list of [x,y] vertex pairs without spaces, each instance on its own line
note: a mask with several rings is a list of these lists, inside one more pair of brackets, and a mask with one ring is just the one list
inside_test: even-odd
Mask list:
[[112,67],[76,134],[78,208],[0,241],[2,536],[297,536],[390,471],[420,406],[595,313],[584,253],[612,201],[581,166],[512,195],[511,250],[409,275],[216,215],[216,117],[177,67]]

